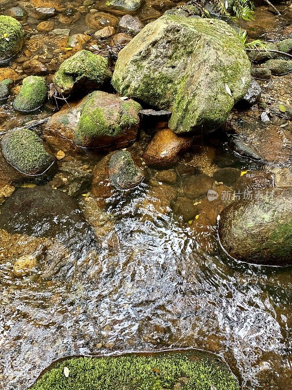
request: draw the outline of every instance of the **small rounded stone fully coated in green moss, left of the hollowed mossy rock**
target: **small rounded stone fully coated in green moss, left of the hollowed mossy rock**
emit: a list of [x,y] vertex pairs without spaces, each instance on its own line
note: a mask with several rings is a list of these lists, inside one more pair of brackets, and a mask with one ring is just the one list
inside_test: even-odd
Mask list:
[[34,111],[44,104],[46,98],[46,80],[39,76],[29,76],[23,79],[22,87],[13,105],[18,111]]

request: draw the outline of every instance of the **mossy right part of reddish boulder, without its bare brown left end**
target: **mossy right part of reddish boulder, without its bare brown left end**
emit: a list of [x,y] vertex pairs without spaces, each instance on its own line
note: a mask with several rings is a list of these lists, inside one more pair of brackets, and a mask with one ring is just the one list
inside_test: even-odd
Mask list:
[[75,141],[82,147],[134,140],[141,105],[102,91],[92,92],[80,106]]

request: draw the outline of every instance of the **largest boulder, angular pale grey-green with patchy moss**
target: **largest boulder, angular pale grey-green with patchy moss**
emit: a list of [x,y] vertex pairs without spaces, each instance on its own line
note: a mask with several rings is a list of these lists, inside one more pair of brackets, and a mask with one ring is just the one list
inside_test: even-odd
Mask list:
[[112,84],[123,96],[171,109],[176,133],[222,125],[251,83],[237,33],[216,19],[164,15],[121,50]]

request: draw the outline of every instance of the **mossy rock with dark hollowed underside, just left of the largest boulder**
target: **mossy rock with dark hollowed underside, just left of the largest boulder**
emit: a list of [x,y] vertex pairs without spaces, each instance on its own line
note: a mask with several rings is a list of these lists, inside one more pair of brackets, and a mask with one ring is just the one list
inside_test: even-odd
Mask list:
[[56,89],[64,95],[74,89],[98,89],[110,80],[111,71],[104,57],[81,50],[61,64],[54,76]]

